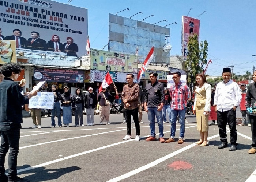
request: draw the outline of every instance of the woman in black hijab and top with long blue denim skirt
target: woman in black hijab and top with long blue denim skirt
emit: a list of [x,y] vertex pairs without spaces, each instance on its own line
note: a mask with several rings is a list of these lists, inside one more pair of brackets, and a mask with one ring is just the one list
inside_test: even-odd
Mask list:
[[63,109],[63,124],[66,127],[69,127],[69,123],[72,123],[71,97],[72,95],[69,93],[68,87],[64,87],[64,93],[61,94],[60,100]]

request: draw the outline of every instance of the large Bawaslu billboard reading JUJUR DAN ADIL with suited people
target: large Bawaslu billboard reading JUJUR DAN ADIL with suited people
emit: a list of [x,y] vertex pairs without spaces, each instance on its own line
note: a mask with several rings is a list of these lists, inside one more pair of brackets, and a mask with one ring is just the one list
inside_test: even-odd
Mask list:
[[82,56],[87,9],[50,0],[1,0],[0,29],[4,40],[15,40],[22,52]]

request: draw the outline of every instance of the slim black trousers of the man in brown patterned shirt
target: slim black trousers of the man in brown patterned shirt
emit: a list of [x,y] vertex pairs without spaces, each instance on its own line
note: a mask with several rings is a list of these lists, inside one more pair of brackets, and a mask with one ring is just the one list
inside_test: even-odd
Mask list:
[[127,135],[131,135],[131,133],[132,133],[131,118],[133,118],[133,121],[135,124],[136,135],[140,135],[138,107],[135,109],[124,109],[124,110],[125,110],[125,118],[126,118]]

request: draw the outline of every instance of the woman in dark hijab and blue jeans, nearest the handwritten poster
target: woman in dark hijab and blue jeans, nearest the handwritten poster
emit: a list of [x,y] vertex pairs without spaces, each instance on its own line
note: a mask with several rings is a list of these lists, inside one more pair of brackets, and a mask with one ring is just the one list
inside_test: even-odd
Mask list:
[[52,114],[52,128],[55,127],[55,113],[57,114],[58,118],[58,126],[59,128],[62,127],[61,125],[61,117],[60,117],[60,92],[57,91],[57,86],[52,85],[52,92],[54,94],[54,103],[53,103],[53,109],[51,110]]

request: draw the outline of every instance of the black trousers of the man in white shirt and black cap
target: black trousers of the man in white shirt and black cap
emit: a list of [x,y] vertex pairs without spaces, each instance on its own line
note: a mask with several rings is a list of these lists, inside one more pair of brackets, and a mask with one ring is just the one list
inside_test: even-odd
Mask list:
[[232,108],[229,111],[217,111],[219,137],[222,143],[227,143],[227,124],[230,130],[230,143],[237,146],[236,111]]

